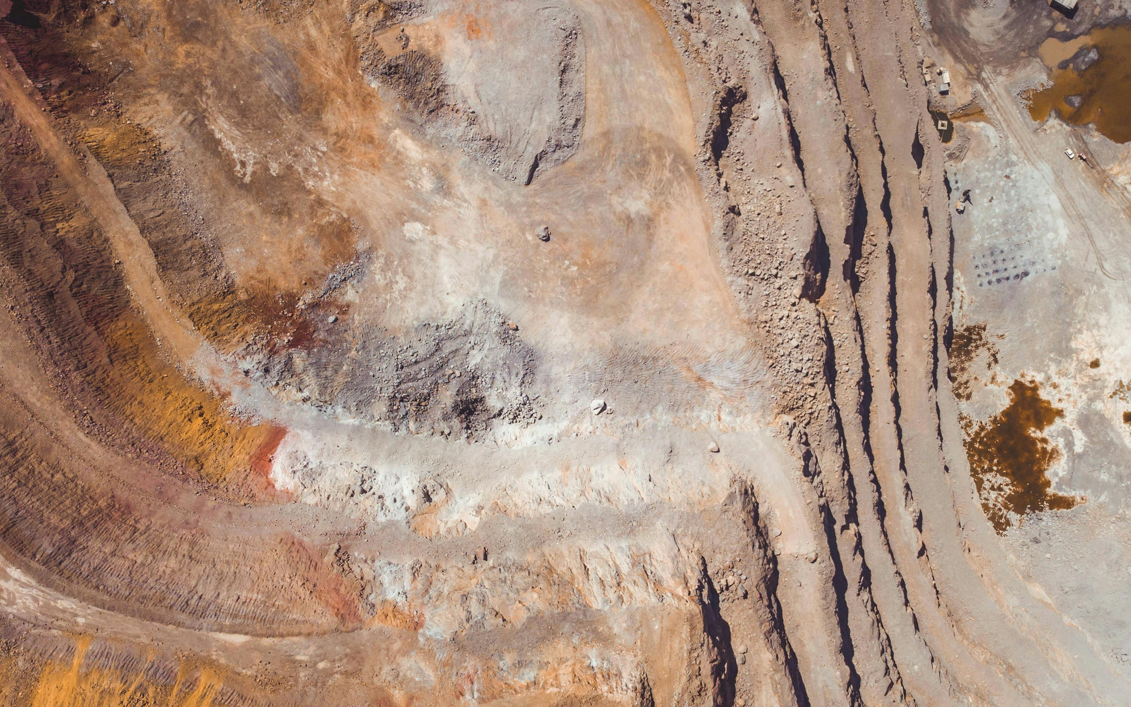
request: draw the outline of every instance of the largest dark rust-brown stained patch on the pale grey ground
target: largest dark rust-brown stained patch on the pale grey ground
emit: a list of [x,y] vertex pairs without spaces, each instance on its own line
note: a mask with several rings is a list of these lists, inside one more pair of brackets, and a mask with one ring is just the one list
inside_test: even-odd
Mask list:
[[1010,403],[990,420],[964,420],[966,456],[982,498],[982,509],[994,529],[1004,533],[1017,516],[1041,510],[1065,510],[1079,499],[1051,491],[1045,474],[1061,452],[1041,432],[1063,411],[1041,397],[1036,383],[1015,380]]

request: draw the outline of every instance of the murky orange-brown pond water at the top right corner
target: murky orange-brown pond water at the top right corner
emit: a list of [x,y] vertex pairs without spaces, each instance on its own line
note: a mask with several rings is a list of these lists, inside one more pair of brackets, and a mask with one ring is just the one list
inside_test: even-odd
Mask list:
[[[1086,46],[1099,50],[1095,63],[1083,71],[1056,68]],[[1095,123],[1112,140],[1131,141],[1131,25],[1099,27],[1068,42],[1046,40],[1041,45],[1041,60],[1052,69],[1053,84],[1029,92],[1034,120],[1046,120],[1055,111],[1065,122]],[[1065,102],[1073,96],[1079,97],[1076,107]]]

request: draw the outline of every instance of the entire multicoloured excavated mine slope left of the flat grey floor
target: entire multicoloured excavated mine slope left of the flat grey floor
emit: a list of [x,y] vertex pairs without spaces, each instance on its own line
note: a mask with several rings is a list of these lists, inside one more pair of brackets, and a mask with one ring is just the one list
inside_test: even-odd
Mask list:
[[0,702],[1121,704],[926,12],[14,2]]

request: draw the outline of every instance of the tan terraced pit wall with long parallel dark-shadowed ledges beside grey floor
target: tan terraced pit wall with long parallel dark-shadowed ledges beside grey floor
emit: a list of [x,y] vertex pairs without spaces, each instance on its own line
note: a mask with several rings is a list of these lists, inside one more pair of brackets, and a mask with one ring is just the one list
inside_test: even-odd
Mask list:
[[[714,100],[699,103],[713,109],[700,123],[700,180],[716,208],[732,288],[752,295],[746,311],[778,362],[780,409],[800,423],[783,434],[812,458],[806,477],[827,529],[822,617],[835,622],[818,629],[817,644],[798,647],[797,662],[820,652],[820,641],[826,656],[840,658],[800,671],[795,696],[814,704],[1020,705],[1073,693],[1071,679],[1035,667],[1044,657],[1028,644],[1009,645],[1004,637],[1016,629],[964,557],[970,543],[994,545],[970,501],[977,497],[953,398],[949,387],[939,389],[947,380],[952,241],[914,8],[744,6],[749,21],[707,3],[665,9],[696,79],[693,97],[697,85],[715,87]],[[756,49],[751,37],[760,40]],[[761,59],[753,70],[724,59],[743,55],[733,49],[743,44]],[[769,131],[756,122],[766,118]],[[808,150],[819,157],[806,159]],[[806,170],[818,163],[836,169]],[[759,198],[759,178],[775,170],[801,182],[803,200],[775,209]],[[775,216],[792,222],[780,238]],[[796,273],[803,282],[827,278],[815,312],[796,298],[815,288],[794,291],[791,303],[759,287],[779,257],[775,241],[789,256],[804,253],[797,260],[806,264],[820,262],[817,251],[828,248],[827,271]],[[780,266],[769,267],[777,275]],[[797,329],[775,326],[786,308],[809,313],[801,319],[829,365],[788,365]],[[793,393],[797,372],[817,378],[817,395]],[[788,614],[788,595],[775,592]]]

